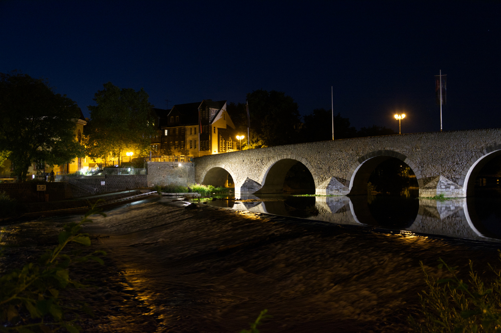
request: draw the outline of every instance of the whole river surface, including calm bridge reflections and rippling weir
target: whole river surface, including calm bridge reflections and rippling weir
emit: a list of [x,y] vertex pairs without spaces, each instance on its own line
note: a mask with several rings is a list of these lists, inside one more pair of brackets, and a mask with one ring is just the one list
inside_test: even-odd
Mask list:
[[274,317],[263,333],[407,331],[423,288],[420,260],[431,273],[439,257],[463,270],[467,258],[497,261],[497,212],[478,213],[470,199],[280,194],[190,203],[138,201],[87,226],[155,318],[145,331],[238,332],[264,308]]

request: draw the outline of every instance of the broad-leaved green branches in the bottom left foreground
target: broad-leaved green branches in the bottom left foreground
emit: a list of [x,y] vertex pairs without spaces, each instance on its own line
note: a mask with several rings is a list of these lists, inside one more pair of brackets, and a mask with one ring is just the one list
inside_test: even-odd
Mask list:
[[65,307],[59,292],[69,285],[86,286],[70,279],[70,263],[91,259],[103,264],[97,255],[106,255],[106,252],[98,250],[85,256],[76,256],[75,253],[63,253],[63,249],[70,242],[87,246],[91,244],[89,235],[82,233],[81,229],[82,224],[92,222],[90,215],[106,216],[96,204],[91,206],[80,222],[64,225],[58,236],[59,244],[52,250],[48,249],[38,263],[30,262],[22,269],[15,269],[0,277],[0,332],[48,333],[61,328],[66,328],[70,333],[80,331],[81,327],[75,323],[78,319],[75,311],[92,312],[85,304],[80,308]]

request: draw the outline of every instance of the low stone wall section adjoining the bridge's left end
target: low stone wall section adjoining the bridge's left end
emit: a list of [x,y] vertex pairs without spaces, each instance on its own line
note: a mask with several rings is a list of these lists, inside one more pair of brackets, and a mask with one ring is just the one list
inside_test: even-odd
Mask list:
[[193,162],[147,162],[147,168],[149,187],[169,184],[187,186],[195,182]]

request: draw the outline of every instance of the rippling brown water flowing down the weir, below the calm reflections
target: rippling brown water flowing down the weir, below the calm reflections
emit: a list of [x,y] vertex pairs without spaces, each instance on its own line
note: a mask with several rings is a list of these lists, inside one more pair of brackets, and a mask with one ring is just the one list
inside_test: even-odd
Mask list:
[[[464,273],[468,258],[498,262],[497,244],[183,204],[142,200],[86,226],[108,255],[71,271],[101,287],[65,295],[96,309],[84,331],[235,332],[268,308],[263,333],[400,332],[418,309],[419,260],[436,272],[442,257]],[[18,247],[2,266],[33,260],[72,218],[7,226],[3,241]]]

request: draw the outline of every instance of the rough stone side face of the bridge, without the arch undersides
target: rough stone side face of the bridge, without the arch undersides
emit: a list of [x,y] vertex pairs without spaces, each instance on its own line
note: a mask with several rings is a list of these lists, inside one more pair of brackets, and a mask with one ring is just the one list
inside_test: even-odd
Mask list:
[[[326,191],[329,184],[335,187],[334,178],[346,186],[346,192],[352,175],[361,163],[370,157],[386,154],[406,162],[416,174],[420,187],[424,188],[434,180],[437,182],[435,187],[444,186],[439,193],[445,192],[448,186],[450,195],[464,196],[462,186],[471,165],[489,151],[500,149],[500,144],[499,128],[300,143],[196,157],[194,178],[202,182],[211,168],[222,167],[233,177],[237,191],[247,178],[263,185],[267,170],[274,163],[293,158],[309,168],[318,191],[322,190],[322,186],[323,191]],[[426,195],[434,192],[436,190],[426,189]]]

